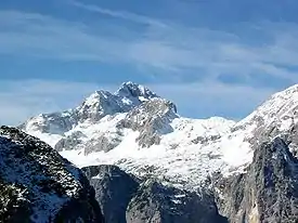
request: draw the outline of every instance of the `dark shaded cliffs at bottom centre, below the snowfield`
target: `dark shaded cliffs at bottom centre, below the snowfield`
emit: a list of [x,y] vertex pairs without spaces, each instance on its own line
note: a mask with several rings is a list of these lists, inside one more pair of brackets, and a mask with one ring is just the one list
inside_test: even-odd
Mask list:
[[223,223],[212,197],[141,181],[115,166],[82,168],[106,223]]

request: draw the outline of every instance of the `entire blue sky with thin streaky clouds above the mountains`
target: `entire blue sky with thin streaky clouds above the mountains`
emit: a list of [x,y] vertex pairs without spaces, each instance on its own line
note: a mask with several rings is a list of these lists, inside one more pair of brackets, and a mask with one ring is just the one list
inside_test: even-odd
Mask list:
[[0,123],[134,81],[239,119],[298,80],[296,0],[0,1]]

